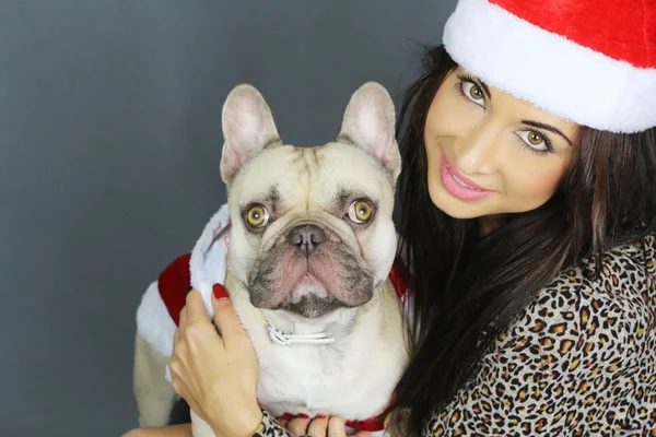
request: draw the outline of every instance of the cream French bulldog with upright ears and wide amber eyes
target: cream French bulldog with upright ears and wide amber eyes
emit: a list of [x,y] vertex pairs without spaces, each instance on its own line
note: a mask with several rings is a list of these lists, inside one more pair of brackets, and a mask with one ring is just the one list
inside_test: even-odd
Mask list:
[[[384,417],[408,364],[402,290],[389,276],[401,168],[395,119],[387,91],[368,82],[351,96],[335,141],[300,147],[282,142],[255,87],[236,86],[223,106],[227,204],[188,259],[190,283],[209,316],[212,283],[225,284],[258,357],[258,401],[277,417],[339,415],[358,428]],[[164,378],[172,339],[162,340],[175,327],[147,327],[163,282],[151,284],[138,315],[142,426],[165,425],[176,400]],[[191,418],[195,436],[213,436]]]

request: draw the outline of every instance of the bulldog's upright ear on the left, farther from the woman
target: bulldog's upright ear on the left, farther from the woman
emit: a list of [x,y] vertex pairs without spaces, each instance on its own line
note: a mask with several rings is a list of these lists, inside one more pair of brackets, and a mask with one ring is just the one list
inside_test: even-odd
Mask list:
[[229,184],[246,161],[269,145],[281,143],[271,109],[251,85],[237,85],[223,104],[221,178]]

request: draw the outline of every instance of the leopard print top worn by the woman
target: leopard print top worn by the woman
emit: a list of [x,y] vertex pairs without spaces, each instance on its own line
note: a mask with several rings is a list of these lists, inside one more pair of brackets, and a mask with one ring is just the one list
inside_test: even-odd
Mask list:
[[[652,236],[562,272],[425,435],[656,436],[655,262]],[[290,434],[265,412],[259,435]]]

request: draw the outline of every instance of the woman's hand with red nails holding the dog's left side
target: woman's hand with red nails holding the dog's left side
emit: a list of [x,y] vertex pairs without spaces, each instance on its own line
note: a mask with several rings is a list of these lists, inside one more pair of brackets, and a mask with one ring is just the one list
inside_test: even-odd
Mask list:
[[214,323],[200,292],[187,295],[168,367],[173,389],[221,437],[253,436],[262,420],[258,364],[225,290],[214,285]]

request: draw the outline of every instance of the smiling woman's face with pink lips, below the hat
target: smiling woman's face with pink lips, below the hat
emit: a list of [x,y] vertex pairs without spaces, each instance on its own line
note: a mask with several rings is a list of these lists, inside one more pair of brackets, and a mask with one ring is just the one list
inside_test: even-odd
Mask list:
[[424,129],[429,192],[456,218],[530,211],[557,190],[577,125],[458,68],[437,91]]

